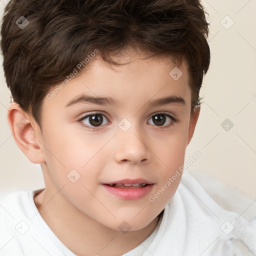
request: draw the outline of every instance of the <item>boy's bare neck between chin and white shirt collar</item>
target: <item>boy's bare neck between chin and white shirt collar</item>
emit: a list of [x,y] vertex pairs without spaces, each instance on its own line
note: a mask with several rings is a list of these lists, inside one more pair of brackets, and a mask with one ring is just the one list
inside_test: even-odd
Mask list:
[[156,217],[140,230],[123,233],[88,217],[61,193],[54,194],[45,188],[34,196],[35,205],[59,240],[77,255],[122,255],[146,239],[158,222]]

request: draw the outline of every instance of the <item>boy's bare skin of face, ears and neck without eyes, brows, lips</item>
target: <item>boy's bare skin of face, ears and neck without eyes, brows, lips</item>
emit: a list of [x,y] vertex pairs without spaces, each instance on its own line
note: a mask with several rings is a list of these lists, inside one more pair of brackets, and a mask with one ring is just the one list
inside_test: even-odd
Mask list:
[[[39,213],[78,255],[121,255],[152,233],[157,215],[175,193],[181,175],[154,202],[148,198],[183,164],[199,115],[197,107],[190,116],[191,90],[184,59],[179,66],[183,74],[175,81],[169,75],[175,66],[170,59],[142,59],[144,55],[126,53],[118,61],[131,62],[114,68],[94,57],[86,70],[51,100],[45,96],[41,129],[17,103],[8,107],[15,142],[31,162],[41,164],[45,189],[34,196]],[[84,102],[65,107],[80,93],[113,97],[121,105]],[[167,95],[180,96],[185,104],[148,105],[149,100]],[[81,125],[93,127],[89,118],[77,122],[95,111],[103,114],[103,123],[95,130]],[[176,121],[165,116],[163,126],[169,127],[161,129],[163,126],[151,118],[161,112],[175,116]],[[117,125],[123,118],[131,123],[125,132]],[[16,126],[20,119],[26,120],[23,129]],[[72,169],[80,175],[74,183],[66,176]],[[118,198],[102,186],[104,182],[138,177],[154,185],[136,200]],[[126,233],[118,228],[123,221],[130,226]]]

